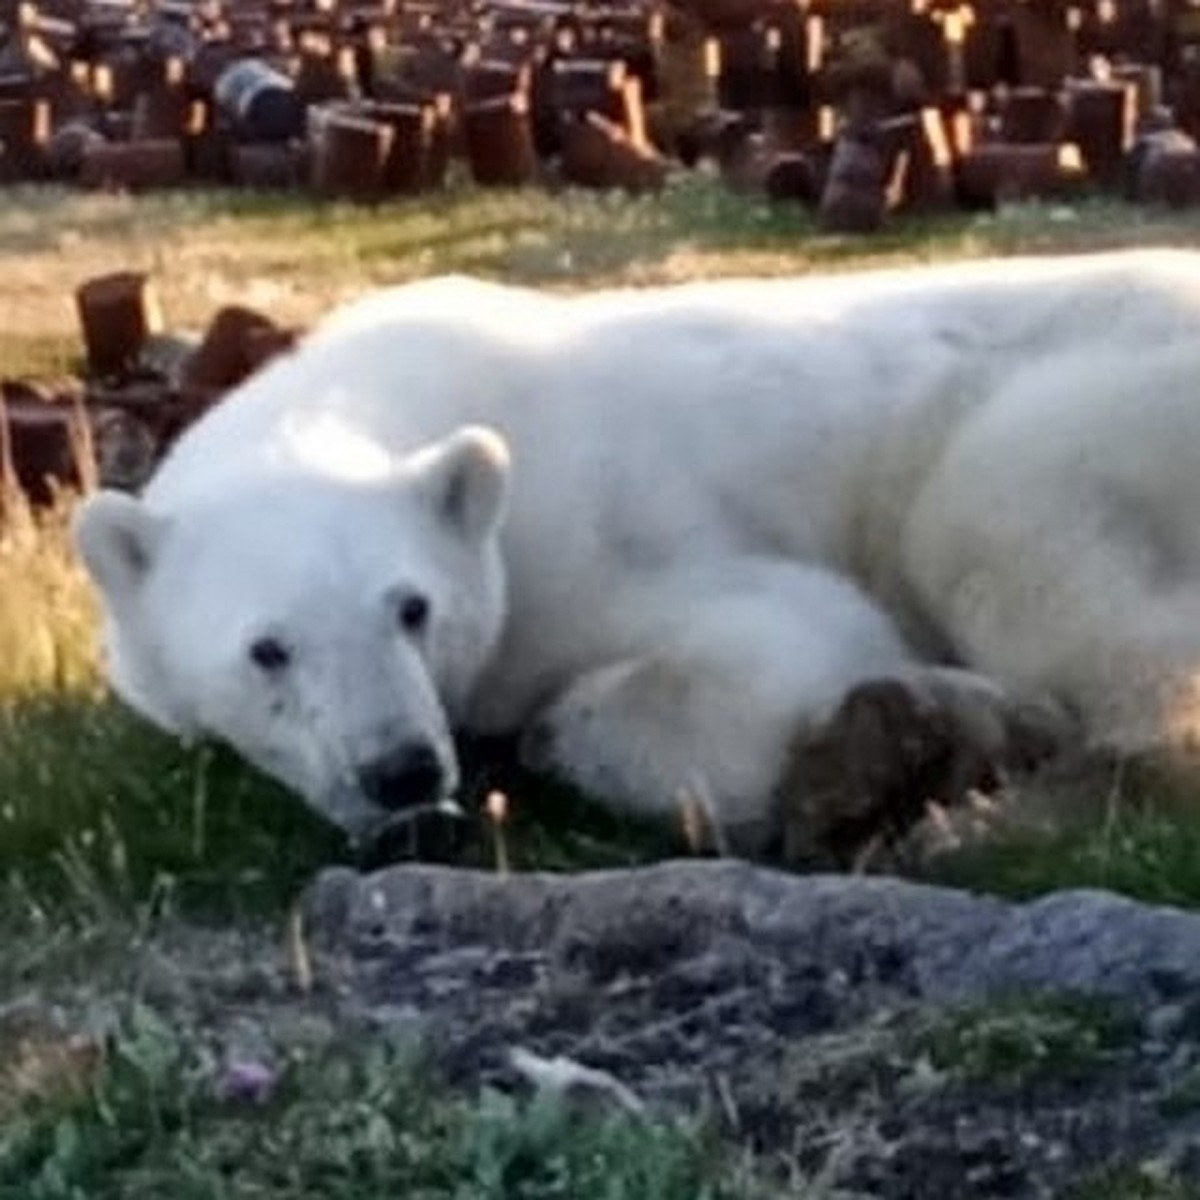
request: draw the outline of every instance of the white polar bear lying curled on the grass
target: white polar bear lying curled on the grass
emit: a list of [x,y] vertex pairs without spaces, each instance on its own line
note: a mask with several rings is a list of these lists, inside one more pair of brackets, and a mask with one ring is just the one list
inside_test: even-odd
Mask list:
[[1198,518],[1200,256],[1154,251],[386,290],[76,536],[116,691],[355,835],[454,791],[460,727],[758,830],[864,680],[1170,736]]

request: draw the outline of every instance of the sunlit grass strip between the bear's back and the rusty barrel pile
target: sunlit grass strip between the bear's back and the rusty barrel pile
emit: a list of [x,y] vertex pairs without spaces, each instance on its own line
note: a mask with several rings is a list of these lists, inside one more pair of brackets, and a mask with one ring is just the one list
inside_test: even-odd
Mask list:
[[460,188],[377,209],[222,191],[132,199],[7,188],[0,352],[6,373],[68,362],[74,288],[121,269],[151,272],[169,319],[193,326],[229,301],[304,323],[366,286],[437,271],[575,288],[1198,240],[1186,214],[1099,200],[898,222],[869,239],[823,235],[800,208],[700,178],[659,198]]

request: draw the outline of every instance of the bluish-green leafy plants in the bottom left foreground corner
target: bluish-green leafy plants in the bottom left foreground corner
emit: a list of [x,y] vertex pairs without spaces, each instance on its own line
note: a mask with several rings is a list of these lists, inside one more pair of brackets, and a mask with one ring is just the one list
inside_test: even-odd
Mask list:
[[754,1200],[799,1196],[722,1162],[696,1123],[437,1087],[385,1039],[295,1049],[270,1082],[134,1010],[104,1062],[0,1124],[0,1200]]

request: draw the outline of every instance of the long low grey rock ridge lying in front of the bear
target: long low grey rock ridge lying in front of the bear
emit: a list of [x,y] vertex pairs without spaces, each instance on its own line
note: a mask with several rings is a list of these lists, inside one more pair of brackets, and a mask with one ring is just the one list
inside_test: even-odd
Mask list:
[[1103,892],[1012,905],[895,878],[678,860],[576,876],[340,869],[317,878],[306,904],[326,943],[582,955],[600,974],[604,961],[649,970],[733,938],[823,973],[901,972],[937,1001],[1062,988],[1150,1003],[1200,988],[1200,916]]

